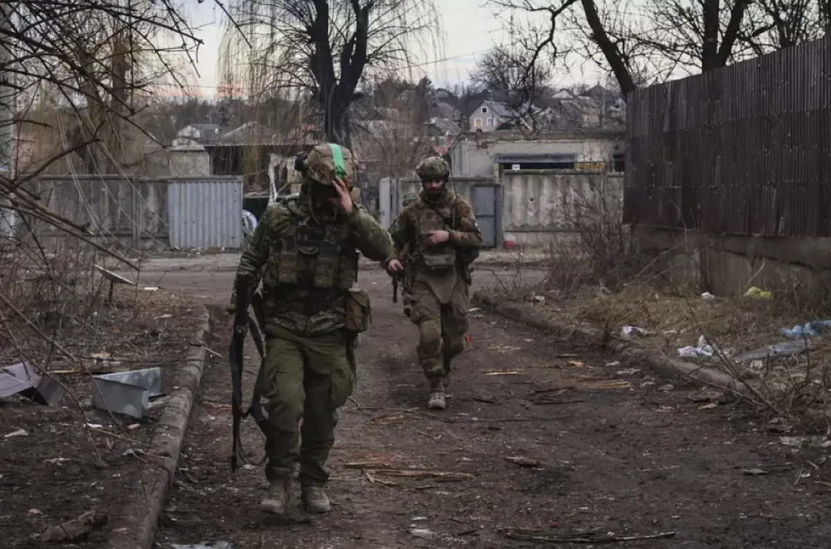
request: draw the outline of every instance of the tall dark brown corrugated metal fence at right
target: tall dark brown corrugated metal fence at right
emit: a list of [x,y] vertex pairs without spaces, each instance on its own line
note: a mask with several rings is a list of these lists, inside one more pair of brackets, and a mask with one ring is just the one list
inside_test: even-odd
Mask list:
[[624,221],[831,235],[831,37],[635,91]]

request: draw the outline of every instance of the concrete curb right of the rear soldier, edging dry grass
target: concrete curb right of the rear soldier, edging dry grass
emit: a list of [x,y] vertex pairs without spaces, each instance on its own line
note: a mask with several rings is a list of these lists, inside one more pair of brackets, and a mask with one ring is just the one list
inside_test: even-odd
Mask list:
[[512,321],[532,326],[538,330],[553,333],[558,336],[564,336],[571,341],[602,347],[603,349],[622,355],[627,360],[645,362],[655,375],[668,380],[686,380],[691,381],[695,385],[715,386],[738,395],[749,395],[750,393],[745,385],[740,384],[729,375],[713,368],[692,364],[684,360],[672,360],[654,350],[643,349],[627,341],[621,341],[615,338],[603,341],[602,333],[599,330],[588,330],[586,328],[558,323],[548,318],[540,318],[534,313],[531,307],[523,304],[500,303],[490,297],[486,297],[483,292],[475,292],[471,301],[475,302],[484,311],[504,316]]

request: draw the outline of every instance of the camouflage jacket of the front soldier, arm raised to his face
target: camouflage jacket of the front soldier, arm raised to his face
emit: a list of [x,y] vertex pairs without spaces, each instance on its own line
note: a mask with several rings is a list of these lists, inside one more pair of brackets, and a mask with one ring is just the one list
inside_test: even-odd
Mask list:
[[[344,229],[346,225],[346,230],[341,232],[347,234],[344,243],[373,261],[386,262],[394,257],[394,252],[389,234],[356,203],[353,203],[352,213],[348,216],[339,212],[335,218],[322,221],[312,216],[307,197],[303,195],[299,199],[276,203],[266,209],[239,260],[228,311],[233,313],[236,309],[238,289],[245,288],[248,294],[246,302],[250,303],[254,290],[262,281],[266,316],[264,331],[268,333],[273,331],[273,327],[279,326],[302,336],[319,336],[340,330],[345,325],[345,291],[334,289],[332,292],[340,297],[327,301],[319,311],[308,312],[297,308],[286,310],[285,307],[276,306],[278,302],[289,303],[302,309],[303,301],[307,300],[304,290],[282,284],[277,279],[283,235],[298,219],[306,223],[334,225],[330,227],[332,229]],[[356,271],[356,264],[354,269]]]

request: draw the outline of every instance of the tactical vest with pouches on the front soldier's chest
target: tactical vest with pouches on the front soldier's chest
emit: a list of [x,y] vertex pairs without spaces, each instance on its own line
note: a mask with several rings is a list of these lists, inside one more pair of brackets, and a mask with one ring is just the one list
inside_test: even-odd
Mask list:
[[352,287],[358,254],[346,223],[310,224],[294,217],[282,236],[273,275],[278,285],[342,292]]

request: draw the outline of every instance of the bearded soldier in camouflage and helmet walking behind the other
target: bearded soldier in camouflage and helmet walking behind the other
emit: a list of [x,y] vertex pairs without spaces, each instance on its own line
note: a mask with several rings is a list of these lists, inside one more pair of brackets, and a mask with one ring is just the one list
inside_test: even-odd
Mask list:
[[416,173],[423,188],[391,231],[396,259],[387,270],[393,275],[403,270],[402,252],[408,248],[415,267],[410,320],[418,326],[416,355],[430,383],[427,407],[445,409],[445,376],[450,361],[466,346],[469,267],[482,246],[482,233],[470,204],[447,189],[450,166],[444,159],[425,159]]

